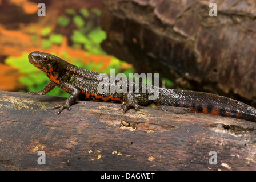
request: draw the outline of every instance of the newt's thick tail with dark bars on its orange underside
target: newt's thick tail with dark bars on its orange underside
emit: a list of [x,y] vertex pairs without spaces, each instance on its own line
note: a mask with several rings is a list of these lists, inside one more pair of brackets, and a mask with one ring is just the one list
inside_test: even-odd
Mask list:
[[156,105],[169,105],[193,109],[196,113],[221,115],[256,122],[256,109],[243,102],[217,94],[189,90],[162,89]]

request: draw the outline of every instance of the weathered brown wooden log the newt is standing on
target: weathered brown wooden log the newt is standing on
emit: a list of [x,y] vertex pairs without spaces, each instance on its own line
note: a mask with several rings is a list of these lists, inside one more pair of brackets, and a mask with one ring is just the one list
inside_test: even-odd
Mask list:
[[1,170],[256,169],[254,122],[178,107],[123,114],[120,104],[89,101],[50,110],[63,101],[0,91]]

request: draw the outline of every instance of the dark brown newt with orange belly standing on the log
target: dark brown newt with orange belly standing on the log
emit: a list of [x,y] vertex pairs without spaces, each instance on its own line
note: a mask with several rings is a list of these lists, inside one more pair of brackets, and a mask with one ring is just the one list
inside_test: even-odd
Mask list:
[[[59,109],[60,114],[63,109],[70,110],[70,106],[78,99],[87,101],[115,102],[120,103],[123,113],[128,109],[134,108],[139,111],[143,106],[149,106],[154,103],[157,106],[176,106],[193,109],[197,113],[221,115],[223,117],[233,117],[256,122],[256,109],[243,102],[231,98],[219,96],[217,94],[195,92],[190,90],[158,89],[158,97],[149,99],[149,92],[99,92],[98,85],[102,80],[98,79],[97,72],[79,68],[58,56],[49,53],[34,51],[29,54],[29,62],[35,67],[45,72],[50,82],[39,92],[29,92],[31,94],[44,95],[50,92],[55,86],[65,90],[70,96],[65,102],[52,109]],[[110,75],[107,75],[110,79]],[[126,79],[126,78],[125,78]],[[135,81],[124,80],[134,86],[138,84]],[[114,86],[118,84],[115,80]],[[141,90],[143,84],[139,82]],[[107,91],[110,91],[110,87]]]

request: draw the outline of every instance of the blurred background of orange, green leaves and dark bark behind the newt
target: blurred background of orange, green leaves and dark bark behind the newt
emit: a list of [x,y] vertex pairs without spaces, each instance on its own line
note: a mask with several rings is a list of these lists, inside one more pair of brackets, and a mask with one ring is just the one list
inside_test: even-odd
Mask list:
[[38,50],[95,72],[159,73],[162,87],[256,106],[255,24],[251,0],[0,0],[0,90],[49,82],[27,59]]

